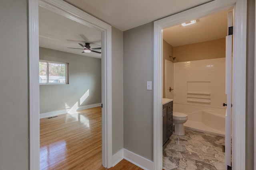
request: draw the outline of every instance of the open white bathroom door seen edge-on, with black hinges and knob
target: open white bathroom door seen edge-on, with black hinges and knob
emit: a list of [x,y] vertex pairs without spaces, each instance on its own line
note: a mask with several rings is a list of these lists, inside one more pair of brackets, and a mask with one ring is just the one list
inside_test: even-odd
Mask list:
[[[225,119],[225,170],[231,168],[231,136],[232,136],[232,34],[233,11],[228,12],[228,36],[226,36],[226,119]],[[233,32],[233,31],[232,31]],[[223,104],[225,106],[225,104]],[[229,168],[230,167],[230,168]]]

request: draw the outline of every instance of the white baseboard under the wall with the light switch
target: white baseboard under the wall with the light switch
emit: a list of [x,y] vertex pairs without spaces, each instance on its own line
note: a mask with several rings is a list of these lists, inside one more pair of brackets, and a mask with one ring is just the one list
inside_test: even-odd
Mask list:
[[154,162],[126,149],[124,149],[124,159],[132,162],[144,170],[154,169]]

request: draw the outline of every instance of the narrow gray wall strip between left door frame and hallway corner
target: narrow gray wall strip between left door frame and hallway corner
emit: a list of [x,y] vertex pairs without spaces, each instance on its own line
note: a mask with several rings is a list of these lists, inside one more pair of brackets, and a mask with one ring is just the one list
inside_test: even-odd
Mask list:
[[112,27],[112,154],[124,148],[123,32]]

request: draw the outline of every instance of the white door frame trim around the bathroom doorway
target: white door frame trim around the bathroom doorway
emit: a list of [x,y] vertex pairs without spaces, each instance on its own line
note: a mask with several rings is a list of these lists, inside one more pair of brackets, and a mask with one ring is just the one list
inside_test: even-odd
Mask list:
[[214,0],[154,22],[154,170],[162,170],[162,29],[234,9],[232,169],[245,169],[246,0]]

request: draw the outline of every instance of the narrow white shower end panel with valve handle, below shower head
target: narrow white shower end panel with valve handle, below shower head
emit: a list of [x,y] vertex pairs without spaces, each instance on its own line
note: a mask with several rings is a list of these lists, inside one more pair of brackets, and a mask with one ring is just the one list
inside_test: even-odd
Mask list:
[[165,98],[173,99],[173,63],[169,60],[165,60]]

